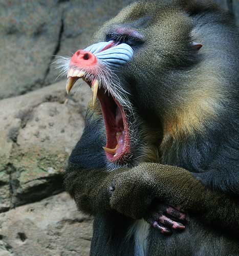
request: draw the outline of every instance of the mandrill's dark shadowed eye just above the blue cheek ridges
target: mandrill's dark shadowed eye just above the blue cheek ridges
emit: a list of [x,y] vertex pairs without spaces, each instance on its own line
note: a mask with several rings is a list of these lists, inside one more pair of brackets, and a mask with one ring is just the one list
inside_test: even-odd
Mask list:
[[119,33],[107,33],[106,34],[106,41],[114,40],[115,42],[118,42],[119,44],[125,43],[129,46],[137,46],[139,44],[142,44],[142,39],[134,36],[134,35],[128,35],[128,34],[119,34]]

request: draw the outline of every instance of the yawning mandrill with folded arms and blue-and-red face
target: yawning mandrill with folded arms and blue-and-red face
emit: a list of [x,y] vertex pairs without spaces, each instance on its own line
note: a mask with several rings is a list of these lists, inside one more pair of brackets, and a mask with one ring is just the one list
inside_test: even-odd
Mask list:
[[64,174],[91,255],[239,255],[238,38],[208,1],[137,2],[64,60],[93,91]]

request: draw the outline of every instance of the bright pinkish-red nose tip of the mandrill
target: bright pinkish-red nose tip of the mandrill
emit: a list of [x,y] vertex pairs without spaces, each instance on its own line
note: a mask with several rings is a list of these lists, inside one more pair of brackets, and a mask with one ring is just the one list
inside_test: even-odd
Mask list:
[[89,67],[97,63],[96,56],[88,51],[78,50],[71,58],[70,65],[80,68]]

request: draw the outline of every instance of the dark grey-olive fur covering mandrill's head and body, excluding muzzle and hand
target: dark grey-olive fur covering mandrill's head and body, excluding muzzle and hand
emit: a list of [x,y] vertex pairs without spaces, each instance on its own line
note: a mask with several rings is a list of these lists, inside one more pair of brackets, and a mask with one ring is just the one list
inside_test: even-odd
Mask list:
[[[140,2],[106,23],[94,42],[104,41],[119,26],[145,38],[132,46],[135,56],[120,73],[140,120],[129,117],[132,130],[140,131],[138,144],[132,146],[127,168],[105,172],[102,117],[89,109],[64,178],[78,208],[95,216],[91,255],[136,256],[134,233],[129,238],[127,233],[135,219],[144,217],[153,196],[180,203],[189,221],[184,232],[171,236],[150,227],[145,255],[239,255],[239,36],[232,16],[206,1]],[[193,49],[191,41],[202,43],[202,49]],[[160,135],[152,139],[157,129]],[[141,165],[147,157],[139,156],[149,148],[155,154],[155,147],[154,178],[134,176],[142,166],[149,166],[145,175],[150,174],[150,165]],[[180,179],[180,172],[173,176],[173,166],[184,168],[179,169],[186,178]],[[173,185],[167,187],[164,177]],[[110,197],[113,181],[116,194]],[[157,187],[153,196],[152,184]]]

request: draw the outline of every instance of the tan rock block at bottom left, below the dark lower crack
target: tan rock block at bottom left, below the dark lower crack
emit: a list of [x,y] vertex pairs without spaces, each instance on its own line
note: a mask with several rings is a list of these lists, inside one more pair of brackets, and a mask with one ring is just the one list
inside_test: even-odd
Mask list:
[[1,256],[88,256],[92,219],[66,193],[0,214]]

